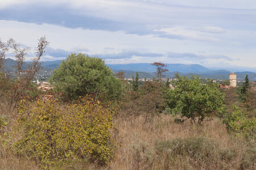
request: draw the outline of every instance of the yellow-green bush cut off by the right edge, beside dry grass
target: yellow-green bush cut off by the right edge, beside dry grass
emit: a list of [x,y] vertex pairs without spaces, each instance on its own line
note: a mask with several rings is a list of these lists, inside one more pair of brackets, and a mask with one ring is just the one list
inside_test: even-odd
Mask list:
[[255,138],[256,118],[248,118],[240,108],[234,106],[232,114],[226,114],[224,124],[230,134],[238,137]]

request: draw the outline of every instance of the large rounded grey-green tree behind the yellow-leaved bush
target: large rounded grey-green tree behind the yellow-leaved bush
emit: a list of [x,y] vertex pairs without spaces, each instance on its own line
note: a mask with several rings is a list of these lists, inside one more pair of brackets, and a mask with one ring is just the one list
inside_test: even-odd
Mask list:
[[61,62],[50,78],[56,91],[63,92],[68,99],[80,96],[106,95],[106,100],[121,98],[123,87],[121,80],[115,78],[112,70],[100,58],[74,54]]

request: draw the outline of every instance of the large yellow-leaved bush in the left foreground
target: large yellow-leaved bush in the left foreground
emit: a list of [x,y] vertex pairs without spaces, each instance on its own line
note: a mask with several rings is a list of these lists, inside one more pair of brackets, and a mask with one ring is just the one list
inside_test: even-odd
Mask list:
[[15,148],[44,168],[71,160],[106,164],[113,157],[113,111],[100,101],[21,100],[18,110],[22,138]]

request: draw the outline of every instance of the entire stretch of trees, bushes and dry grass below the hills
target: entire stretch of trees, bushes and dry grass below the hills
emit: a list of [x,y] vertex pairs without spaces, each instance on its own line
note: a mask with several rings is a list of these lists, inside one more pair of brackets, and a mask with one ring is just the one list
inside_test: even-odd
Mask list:
[[[13,42],[0,43],[0,69]],[[102,59],[71,54],[44,92],[31,80],[47,45],[39,40],[26,70],[16,51],[16,79],[0,71],[0,169],[255,169],[247,76],[229,89],[195,76],[164,82],[155,62],[153,80],[127,82]]]

